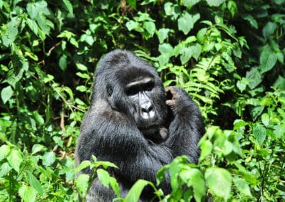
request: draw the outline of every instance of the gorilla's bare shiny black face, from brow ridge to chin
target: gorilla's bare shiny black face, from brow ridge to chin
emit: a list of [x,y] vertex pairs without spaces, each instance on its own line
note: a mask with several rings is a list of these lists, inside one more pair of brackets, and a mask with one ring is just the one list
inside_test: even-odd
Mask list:
[[167,115],[165,92],[155,84],[155,78],[140,75],[125,85],[125,95],[130,103],[130,114],[140,131],[151,136],[159,131]]

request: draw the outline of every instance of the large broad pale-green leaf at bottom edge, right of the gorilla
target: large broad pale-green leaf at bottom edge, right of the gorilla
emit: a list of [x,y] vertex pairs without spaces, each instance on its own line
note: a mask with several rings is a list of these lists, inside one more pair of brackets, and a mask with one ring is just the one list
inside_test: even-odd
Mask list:
[[227,201],[232,189],[232,176],[229,171],[222,168],[209,168],[204,177],[212,193]]

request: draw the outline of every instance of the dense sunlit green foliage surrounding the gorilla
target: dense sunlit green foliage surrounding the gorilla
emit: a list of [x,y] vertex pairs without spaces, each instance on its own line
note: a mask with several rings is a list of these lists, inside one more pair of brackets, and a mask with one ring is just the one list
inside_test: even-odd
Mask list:
[[[198,165],[164,171],[161,201],[285,198],[285,1],[0,0],[0,201],[77,201],[73,152],[95,65],[115,48],[152,63],[199,104],[207,133]],[[118,185],[85,161],[105,186]],[[120,201],[124,201],[123,198]]]

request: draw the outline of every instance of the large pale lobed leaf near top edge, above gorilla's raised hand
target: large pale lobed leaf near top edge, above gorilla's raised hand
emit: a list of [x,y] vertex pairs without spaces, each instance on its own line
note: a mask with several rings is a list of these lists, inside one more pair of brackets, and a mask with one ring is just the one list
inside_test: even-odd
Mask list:
[[190,15],[187,12],[183,14],[180,18],[178,18],[178,29],[182,31],[185,35],[189,33],[192,28],[194,27],[194,24],[199,20],[200,14],[194,14]]

